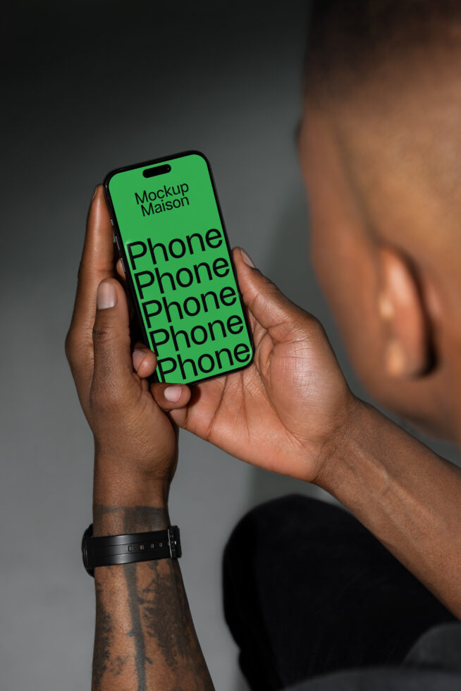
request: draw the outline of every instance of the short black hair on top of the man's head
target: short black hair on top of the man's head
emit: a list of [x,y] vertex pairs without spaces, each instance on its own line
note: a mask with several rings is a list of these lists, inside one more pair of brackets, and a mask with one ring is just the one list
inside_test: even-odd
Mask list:
[[461,0],[312,0],[305,84],[309,97],[336,97],[380,63],[418,50],[461,45]]

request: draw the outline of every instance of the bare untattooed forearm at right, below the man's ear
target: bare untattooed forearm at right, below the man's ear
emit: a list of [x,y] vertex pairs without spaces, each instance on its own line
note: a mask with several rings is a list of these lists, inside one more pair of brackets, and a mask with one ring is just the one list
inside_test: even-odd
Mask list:
[[461,618],[461,470],[361,403],[319,482]]

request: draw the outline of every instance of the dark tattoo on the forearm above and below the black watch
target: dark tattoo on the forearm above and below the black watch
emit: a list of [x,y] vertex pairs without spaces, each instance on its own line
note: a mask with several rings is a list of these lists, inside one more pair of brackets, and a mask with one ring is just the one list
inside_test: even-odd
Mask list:
[[[161,530],[169,523],[168,512],[164,508],[94,506],[94,522],[98,522],[100,529],[108,519],[115,532]],[[145,587],[140,587],[138,582],[138,568],[140,567],[144,570],[149,569],[149,582]],[[188,599],[178,562],[162,559],[161,561],[149,561],[142,564],[124,564],[123,575],[128,591],[130,611],[128,636],[133,640],[135,649],[134,665],[137,691],[147,691],[149,666],[154,665],[154,655],[156,653],[158,659],[159,652],[172,676],[178,675],[178,690],[185,688],[181,684],[183,675],[187,678],[188,690],[213,690],[207,664],[204,661],[190,616]],[[146,582],[145,571],[142,580]],[[128,656],[124,658],[118,656],[117,659],[111,659],[111,647],[113,645],[111,619],[102,605],[97,609],[96,636],[93,669],[94,689],[99,688],[104,674],[116,675],[121,673],[128,659]]]

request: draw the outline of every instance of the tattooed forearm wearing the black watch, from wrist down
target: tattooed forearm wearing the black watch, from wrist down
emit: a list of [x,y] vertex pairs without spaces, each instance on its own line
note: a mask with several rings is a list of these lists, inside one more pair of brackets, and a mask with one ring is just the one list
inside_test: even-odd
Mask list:
[[[133,481],[132,481],[133,482]],[[94,535],[163,530],[169,525],[163,498],[140,503],[99,491],[95,476]],[[135,496],[130,487],[130,499]],[[154,494],[154,493],[152,493]],[[168,691],[212,690],[185,594],[177,559],[97,567],[96,627],[92,689]]]

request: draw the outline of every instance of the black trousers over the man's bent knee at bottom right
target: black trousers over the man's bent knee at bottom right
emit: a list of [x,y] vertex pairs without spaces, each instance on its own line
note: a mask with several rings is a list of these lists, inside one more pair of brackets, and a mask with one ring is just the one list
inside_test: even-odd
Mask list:
[[[457,620],[367,528],[332,504],[291,494],[247,513],[224,550],[223,597],[252,691],[319,675],[329,679],[296,688],[455,688],[449,671],[446,683],[434,685],[429,672],[418,671],[429,683],[422,686],[411,685],[410,662],[390,668],[402,665],[429,629]],[[458,642],[460,628],[450,627]],[[417,652],[412,661],[421,664]],[[338,670],[349,673],[331,676]]]

